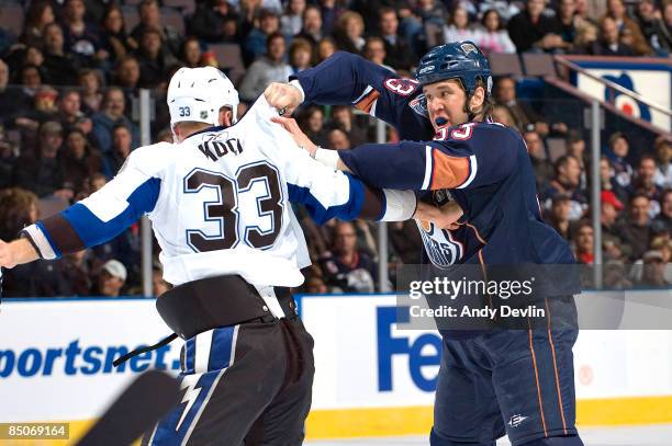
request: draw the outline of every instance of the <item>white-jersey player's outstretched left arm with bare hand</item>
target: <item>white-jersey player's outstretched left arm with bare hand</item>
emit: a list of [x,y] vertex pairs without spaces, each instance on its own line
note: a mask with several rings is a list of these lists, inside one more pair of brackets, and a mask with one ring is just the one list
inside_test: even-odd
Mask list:
[[[141,150],[132,152],[114,180],[100,191],[24,228],[22,239],[5,244],[10,247],[10,259],[14,262],[7,266],[36,259],[58,259],[104,243],[137,221],[143,214],[152,211],[158,199],[160,180],[138,168],[136,152]],[[1,248],[0,259],[3,259]]]

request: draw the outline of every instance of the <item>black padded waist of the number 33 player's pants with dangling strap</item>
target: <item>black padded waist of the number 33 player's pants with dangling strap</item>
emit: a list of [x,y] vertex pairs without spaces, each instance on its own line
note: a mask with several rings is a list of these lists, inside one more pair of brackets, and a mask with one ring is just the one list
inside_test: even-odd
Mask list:
[[[290,289],[277,286],[273,291],[285,317],[296,317],[296,305]],[[219,327],[277,319],[257,288],[239,275],[201,278],[176,286],[156,299],[156,309],[173,334],[155,345],[119,357],[113,362],[115,367],[133,356],[160,348],[177,336],[188,340]]]

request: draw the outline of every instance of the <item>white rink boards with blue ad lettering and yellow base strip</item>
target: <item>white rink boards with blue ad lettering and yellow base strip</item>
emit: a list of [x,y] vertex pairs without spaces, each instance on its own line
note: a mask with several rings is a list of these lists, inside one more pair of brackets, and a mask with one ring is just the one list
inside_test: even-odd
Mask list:
[[[397,330],[393,295],[298,300],[315,339],[309,438],[428,432],[437,333]],[[24,299],[1,309],[2,422],[67,421],[77,437],[136,374],[179,368],[180,342],[112,367],[168,334],[153,299]],[[574,353],[580,425],[672,422],[672,331],[585,330]]]

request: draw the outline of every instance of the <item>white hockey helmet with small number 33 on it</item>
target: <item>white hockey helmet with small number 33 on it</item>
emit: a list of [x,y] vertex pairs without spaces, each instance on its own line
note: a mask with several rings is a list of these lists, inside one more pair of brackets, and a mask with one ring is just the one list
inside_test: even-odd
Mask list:
[[220,108],[231,107],[237,119],[238,92],[214,67],[180,68],[170,79],[167,94],[170,127],[180,122],[220,125]]

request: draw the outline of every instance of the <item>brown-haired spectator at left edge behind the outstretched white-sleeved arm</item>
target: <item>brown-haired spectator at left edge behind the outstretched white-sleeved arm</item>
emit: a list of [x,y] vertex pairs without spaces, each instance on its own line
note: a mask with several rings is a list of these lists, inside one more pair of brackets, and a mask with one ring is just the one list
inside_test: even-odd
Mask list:
[[[0,239],[11,240],[37,221],[37,197],[20,187],[0,191]],[[2,295],[10,297],[70,296],[63,261],[37,261],[3,271]]]

